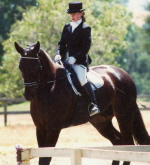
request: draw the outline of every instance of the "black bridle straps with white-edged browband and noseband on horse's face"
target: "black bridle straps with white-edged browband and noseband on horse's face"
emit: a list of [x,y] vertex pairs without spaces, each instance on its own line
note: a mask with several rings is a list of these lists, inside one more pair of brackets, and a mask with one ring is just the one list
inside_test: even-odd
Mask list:
[[38,85],[39,85],[39,82],[40,82],[40,75],[41,75],[41,70],[42,70],[42,65],[41,65],[41,62],[39,60],[39,58],[36,58],[36,57],[21,57],[23,59],[28,59],[28,60],[38,60],[38,63],[40,65],[40,72],[39,72],[39,76],[38,76],[38,80],[35,81],[35,82],[29,82],[29,83],[26,83],[26,82],[23,82],[24,86],[27,86],[27,87],[34,87],[34,88],[38,88]]

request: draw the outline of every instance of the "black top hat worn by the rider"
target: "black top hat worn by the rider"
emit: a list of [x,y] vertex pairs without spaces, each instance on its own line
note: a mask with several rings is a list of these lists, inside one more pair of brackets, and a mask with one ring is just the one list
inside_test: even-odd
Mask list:
[[66,11],[68,14],[78,13],[85,10],[82,9],[82,2],[70,2],[68,5],[69,9]]

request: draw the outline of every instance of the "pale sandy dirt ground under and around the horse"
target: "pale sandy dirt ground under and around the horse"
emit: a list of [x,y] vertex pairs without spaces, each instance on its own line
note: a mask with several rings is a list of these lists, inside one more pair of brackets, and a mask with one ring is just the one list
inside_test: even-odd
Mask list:
[[[142,111],[146,128],[150,134],[150,111]],[[114,125],[117,122],[114,119]],[[3,126],[3,115],[0,115],[0,165],[17,165],[15,145],[24,148],[37,147],[35,126],[30,115],[9,115],[8,126]],[[63,129],[56,147],[98,147],[111,146],[89,123]],[[110,165],[109,160],[83,159],[83,165]],[[37,165],[38,159],[31,160]],[[69,158],[53,158],[51,165],[70,165]],[[132,162],[131,165],[150,165],[150,163]]]

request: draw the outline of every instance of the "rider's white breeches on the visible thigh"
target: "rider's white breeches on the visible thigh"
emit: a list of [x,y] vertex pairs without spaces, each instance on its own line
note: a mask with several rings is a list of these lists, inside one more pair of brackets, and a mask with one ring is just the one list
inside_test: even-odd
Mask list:
[[81,84],[81,86],[83,86],[84,84],[87,83],[87,68],[83,65],[78,65],[78,64],[73,64],[72,65],[73,70],[75,71],[77,78]]

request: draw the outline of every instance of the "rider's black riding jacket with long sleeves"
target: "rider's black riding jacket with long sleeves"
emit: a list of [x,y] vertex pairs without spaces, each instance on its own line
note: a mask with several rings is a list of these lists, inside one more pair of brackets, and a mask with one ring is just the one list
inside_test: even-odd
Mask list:
[[60,54],[63,61],[68,52],[69,56],[76,58],[75,64],[82,64],[88,67],[88,64],[91,63],[91,58],[88,56],[90,46],[91,27],[82,21],[72,32],[72,26],[67,23],[63,28],[56,54]]

